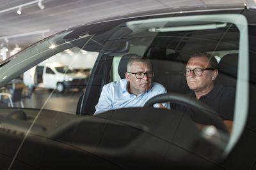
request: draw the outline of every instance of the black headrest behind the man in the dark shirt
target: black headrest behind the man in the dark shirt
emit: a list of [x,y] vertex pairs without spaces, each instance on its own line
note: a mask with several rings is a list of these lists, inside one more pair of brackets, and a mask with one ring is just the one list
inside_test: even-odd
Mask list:
[[229,53],[221,58],[218,64],[218,70],[220,71],[220,73],[225,73],[236,78],[237,63],[238,53]]

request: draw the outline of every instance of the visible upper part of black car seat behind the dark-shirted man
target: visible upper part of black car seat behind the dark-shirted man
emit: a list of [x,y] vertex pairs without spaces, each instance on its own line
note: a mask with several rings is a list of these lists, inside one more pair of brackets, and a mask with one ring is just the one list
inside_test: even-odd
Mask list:
[[216,83],[224,86],[236,87],[238,53],[224,55],[218,64],[218,77]]

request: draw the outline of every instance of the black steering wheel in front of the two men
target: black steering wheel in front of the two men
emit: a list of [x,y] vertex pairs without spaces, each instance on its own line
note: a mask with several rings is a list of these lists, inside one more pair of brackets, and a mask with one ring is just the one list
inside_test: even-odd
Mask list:
[[[161,94],[155,97],[152,97],[144,104],[143,107],[153,106],[155,103],[166,103],[166,102],[173,102],[178,104],[186,104],[191,108],[196,108],[202,111],[207,118],[210,120],[210,124],[214,125],[217,129],[221,129],[222,131],[228,132],[226,125],[223,123],[223,120],[218,116],[216,111],[212,110],[208,105],[202,103],[201,101],[196,101],[195,99],[191,99],[184,94],[177,94],[177,93],[167,93]],[[195,111],[196,114],[196,111]],[[199,114],[199,113],[197,113]]]

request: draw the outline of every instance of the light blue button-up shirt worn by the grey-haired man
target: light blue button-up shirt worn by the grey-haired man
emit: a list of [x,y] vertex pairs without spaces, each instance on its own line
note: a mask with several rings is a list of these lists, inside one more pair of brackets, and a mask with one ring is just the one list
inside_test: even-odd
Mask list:
[[[167,92],[163,85],[154,82],[150,90],[136,96],[127,91],[127,83],[124,78],[104,85],[94,115],[119,108],[143,107],[152,97]],[[163,106],[170,109],[170,103],[163,103]],[[154,107],[158,108],[158,104],[154,104]]]

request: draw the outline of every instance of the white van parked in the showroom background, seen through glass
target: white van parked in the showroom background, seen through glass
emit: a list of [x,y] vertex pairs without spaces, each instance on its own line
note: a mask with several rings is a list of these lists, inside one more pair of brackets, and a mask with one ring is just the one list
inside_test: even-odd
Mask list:
[[88,77],[60,62],[48,62],[26,71],[23,81],[30,90],[40,87],[63,92],[67,88],[83,89]]

